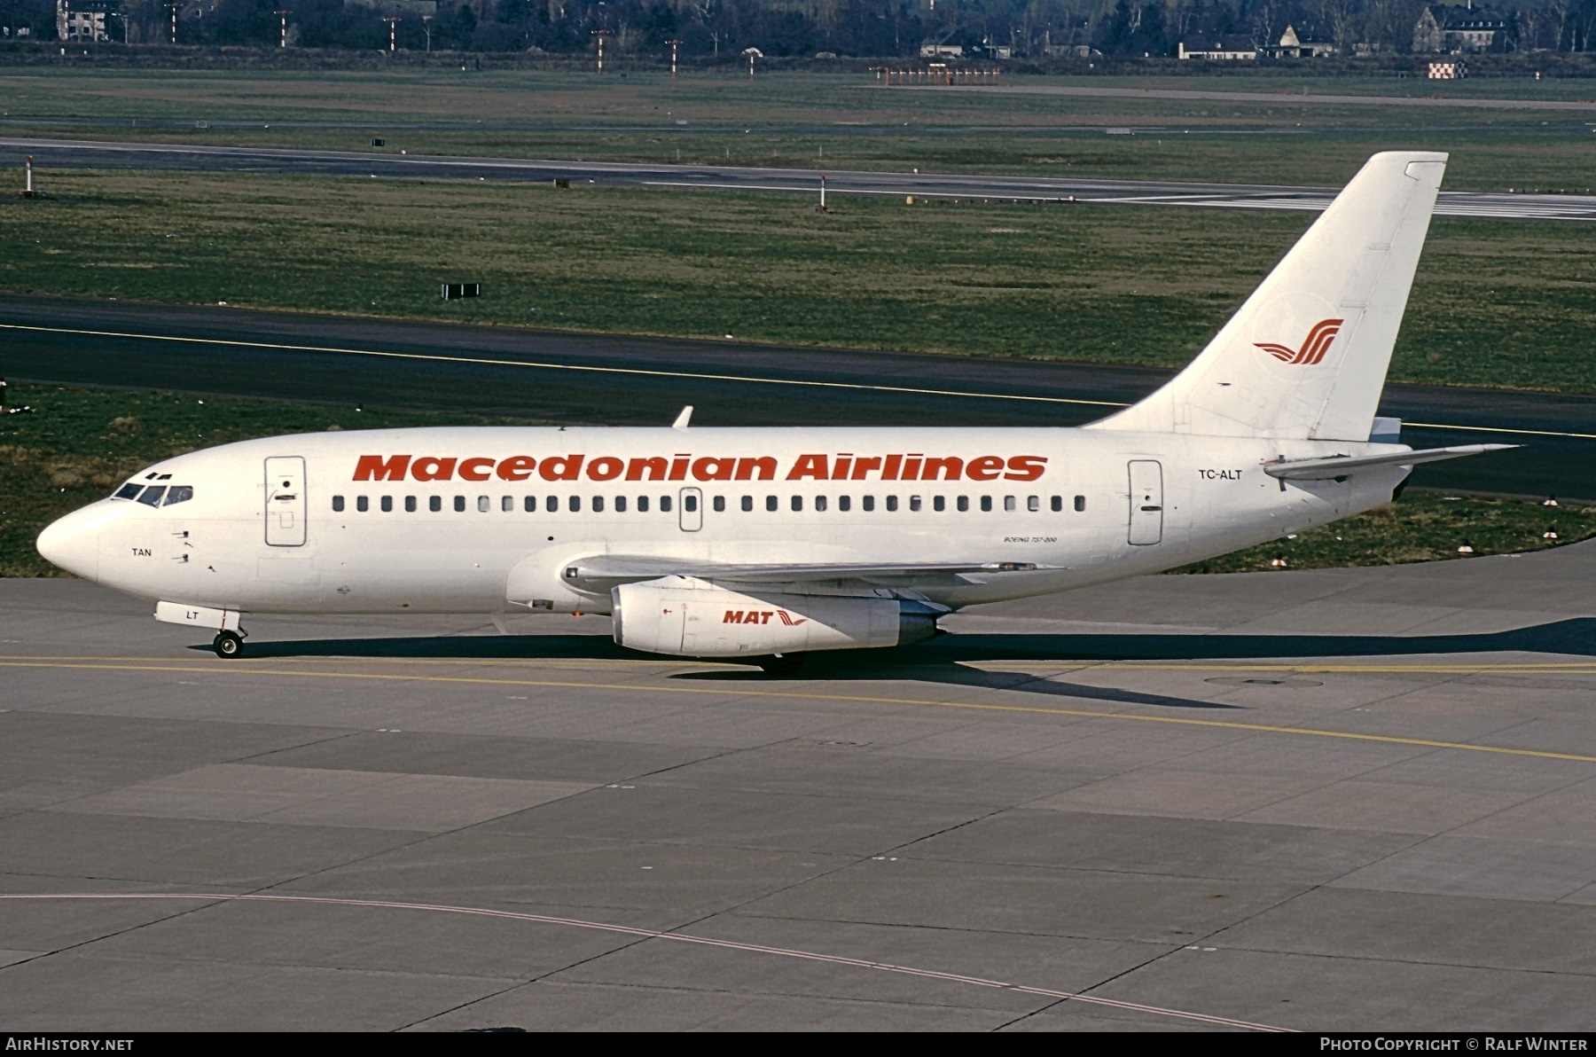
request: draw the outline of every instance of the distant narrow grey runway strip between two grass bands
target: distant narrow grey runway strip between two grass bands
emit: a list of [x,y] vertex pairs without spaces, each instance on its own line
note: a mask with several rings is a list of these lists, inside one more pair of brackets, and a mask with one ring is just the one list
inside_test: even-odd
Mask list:
[[[0,137],[0,168],[21,168],[32,155],[40,169],[169,169],[198,172],[286,172],[377,176],[383,179],[570,179],[677,190],[736,190],[817,195],[825,177],[832,195],[886,195],[1023,203],[1203,206],[1227,209],[1321,211],[1339,188],[1175,180],[1101,180],[978,174],[865,172],[847,169],[752,169],[701,164],[637,164],[533,158],[469,158]],[[1441,192],[1436,216],[1499,220],[1596,220],[1591,195],[1500,195]]]

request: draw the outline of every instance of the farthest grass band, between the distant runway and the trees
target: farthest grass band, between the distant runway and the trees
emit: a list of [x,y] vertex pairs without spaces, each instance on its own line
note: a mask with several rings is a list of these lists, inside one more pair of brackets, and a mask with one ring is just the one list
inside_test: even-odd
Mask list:
[[[1021,78],[1025,81],[1025,78]],[[1588,81],[1033,78],[1238,93],[1223,102],[876,89],[868,75],[93,72],[0,73],[0,131],[388,153],[822,166],[1334,185],[1369,153],[1448,150],[1448,187],[1596,187],[1590,112],[1293,102],[1341,96],[1561,99]],[[26,125],[18,125],[19,120]],[[72,121],[88,121],[73,125]],[[144,125],[140,125],[144,121]],[[152,128],[152,121],[180,126]],[[198,128],[203,125],[204,128]],[[1135,136],[1106,136],[1128,126]]]

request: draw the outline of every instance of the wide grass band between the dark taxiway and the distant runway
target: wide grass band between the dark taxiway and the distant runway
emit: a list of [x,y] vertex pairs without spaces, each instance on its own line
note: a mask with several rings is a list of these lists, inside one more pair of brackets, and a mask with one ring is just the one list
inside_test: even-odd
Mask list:
[[[161,172],[49,192],[0,200],[0,289],[1163,367],[1312,219]],[[1392,377],[1596,393],[1590,244],[1438,219]]]

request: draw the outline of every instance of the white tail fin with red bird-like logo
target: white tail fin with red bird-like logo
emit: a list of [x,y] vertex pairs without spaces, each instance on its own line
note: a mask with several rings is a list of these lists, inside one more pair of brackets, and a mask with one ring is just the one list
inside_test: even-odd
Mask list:
[[1369,158],[1186,370],[1088,428],[1366,441],[1444,171]]

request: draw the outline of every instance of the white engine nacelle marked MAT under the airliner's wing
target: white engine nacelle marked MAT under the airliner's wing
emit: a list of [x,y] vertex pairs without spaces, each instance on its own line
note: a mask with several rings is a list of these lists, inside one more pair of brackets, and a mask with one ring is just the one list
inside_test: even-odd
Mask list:
[[937,634],[938,610],[870,596],[733,591],[693,576],[621,584],[610,592],[614,640],[678,656],[766,656],[863,650]]

